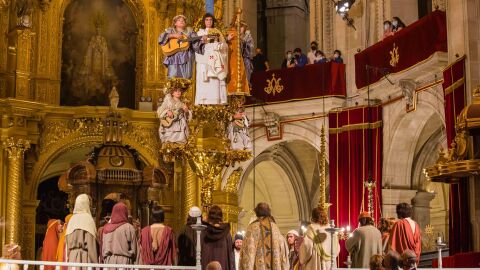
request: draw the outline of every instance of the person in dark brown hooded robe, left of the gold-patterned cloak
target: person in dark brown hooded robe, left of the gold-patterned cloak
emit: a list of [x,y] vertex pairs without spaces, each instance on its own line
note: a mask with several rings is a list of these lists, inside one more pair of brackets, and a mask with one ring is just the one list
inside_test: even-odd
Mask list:
[[223,213],[220,207],[210,207],[206,230],[202,231],[202,269],[211,261],[218,261],[223,270],[235,269],[233,242],[230,235],[230,223],[222,223]]

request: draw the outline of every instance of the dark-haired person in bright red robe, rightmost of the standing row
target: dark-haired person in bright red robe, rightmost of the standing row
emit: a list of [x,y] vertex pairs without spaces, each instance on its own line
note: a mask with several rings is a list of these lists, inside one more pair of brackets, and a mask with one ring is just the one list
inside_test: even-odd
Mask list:
[[417,255],[417,263],[422,252],[420,226],[412,220],[412,207],[408,203],[397,204],[399,220],[393,225],[388,246],[391,250],[403,254],[405,250],[412,250]]

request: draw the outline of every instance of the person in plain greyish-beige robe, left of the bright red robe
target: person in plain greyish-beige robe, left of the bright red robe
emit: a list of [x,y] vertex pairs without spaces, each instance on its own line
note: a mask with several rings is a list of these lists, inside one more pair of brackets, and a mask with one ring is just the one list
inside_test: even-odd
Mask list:
[[358,221],[360,227],[353,231],[345,246],[352,258],[352,268],[368,268],[373,255],[383,254],[382,234],[368,212],[362,212]]

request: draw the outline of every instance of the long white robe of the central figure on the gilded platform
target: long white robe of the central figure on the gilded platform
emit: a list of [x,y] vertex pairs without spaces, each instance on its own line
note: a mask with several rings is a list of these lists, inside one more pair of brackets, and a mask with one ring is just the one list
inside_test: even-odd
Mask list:
[[[198,36],[208,34],[200,29]],[[228,45],[225,42],[207,43],[203,54],[195,54],[197,62],[195,105],[227,104]]]

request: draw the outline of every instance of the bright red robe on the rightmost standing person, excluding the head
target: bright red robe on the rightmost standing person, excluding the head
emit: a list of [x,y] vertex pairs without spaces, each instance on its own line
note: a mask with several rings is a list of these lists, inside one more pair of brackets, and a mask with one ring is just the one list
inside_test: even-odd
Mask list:
[[417,255],[418,262],[420,260],[420,253],[422,252],[420,226],[418,226],[418,223],[415,222],[415,232],[412,232],[412,227],[407,219],[398,220],[395,225],[393,225],[388,246],[399,254],[402,254],[407,249],[412,250]]

